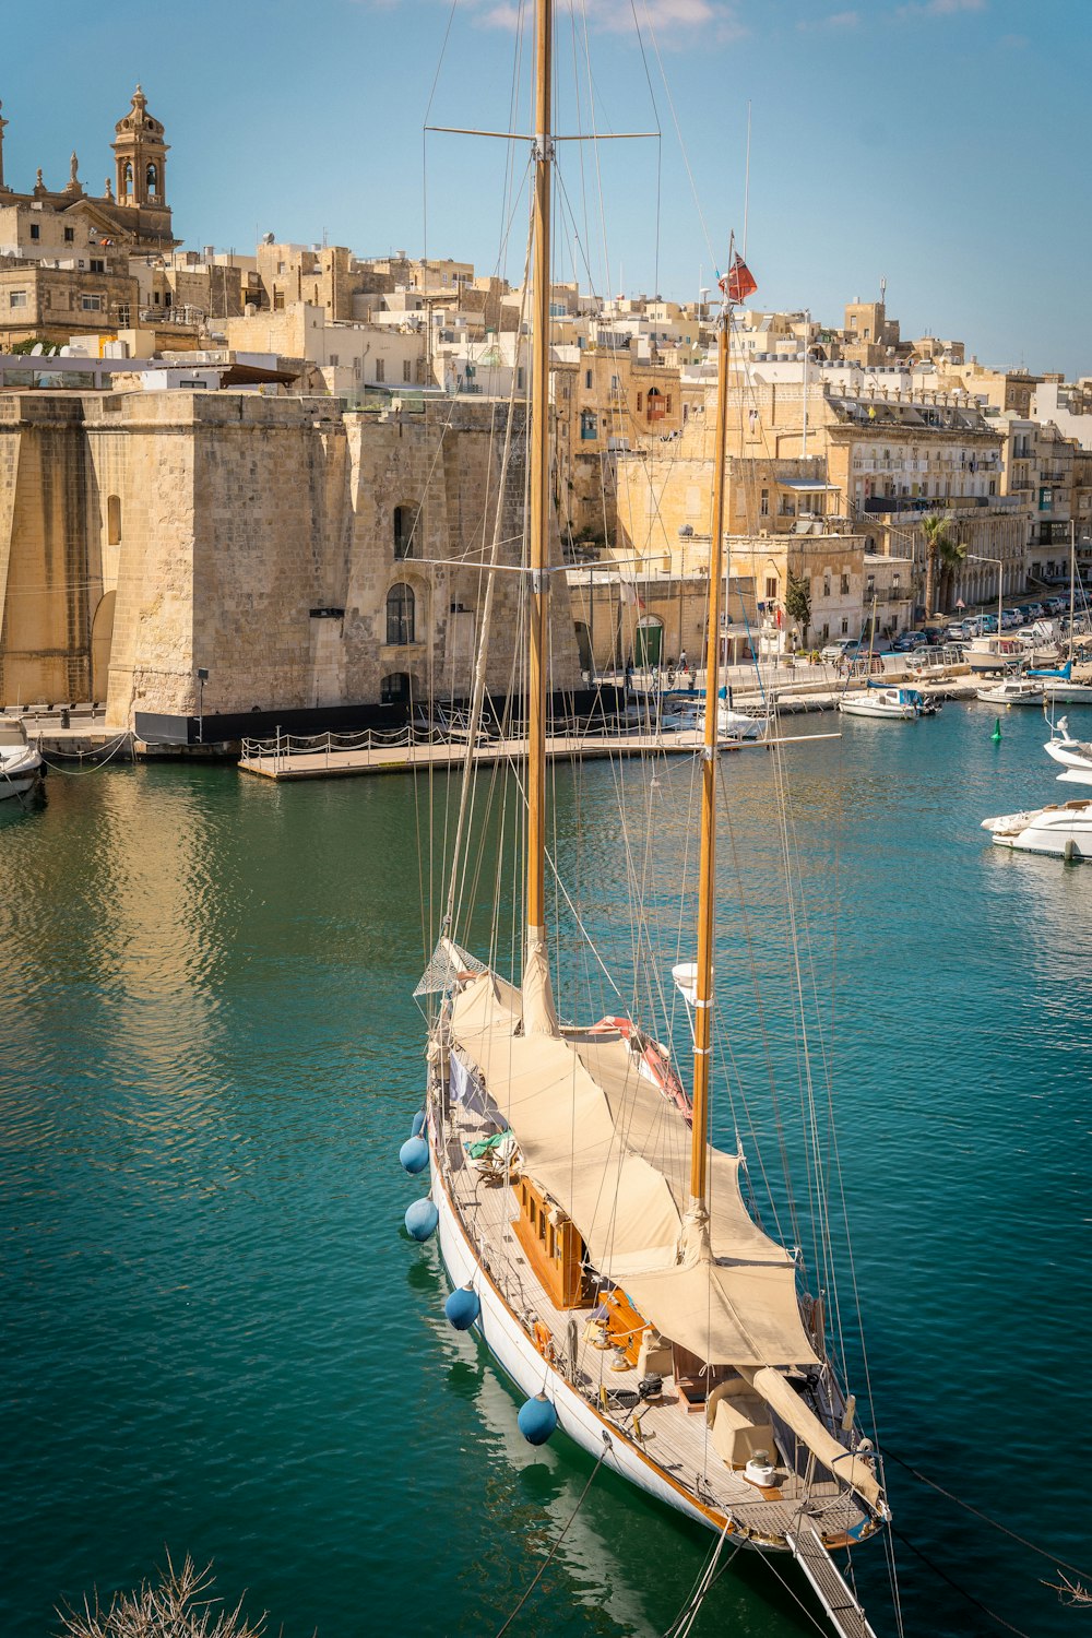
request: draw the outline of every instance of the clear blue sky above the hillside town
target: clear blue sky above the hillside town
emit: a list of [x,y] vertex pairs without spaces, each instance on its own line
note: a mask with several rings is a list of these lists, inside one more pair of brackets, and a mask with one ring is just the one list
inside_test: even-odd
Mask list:
[[[558,120],[589,129],[573,10],[560,0]],[[506,144],[431,136],[426,167],[422,121],[439,66],[434,123],[509,128],[519,11],[521,0],[458,0],[453,15],[449,0],[8,0],[7,180],[29,188],[43,165],[61,187],[75,147],[83,185],[102,192],[113,121],[139,79],[167,126],[188,246],[250,251],[272,229],[421,254],[427,231],[429,254],[490,272]],[[643,52],[634,11],[652,25]],[[743,226],[750,102],[751,305],[833,323],[886,275],[904,336],[1092,373],[1092,0],[586,0],[581,56],[584,16],[598,129],[658,124],[663,141],[599,146],[602,211],[591,147],[566,146],[562,272],[586,257],[583,282],[601,292],[675,298],[712,283],[706,231],[724,264]],[[522,129],[526,108],[524,90]],[[512,278],[522,239],[521,205],[501,262]]]

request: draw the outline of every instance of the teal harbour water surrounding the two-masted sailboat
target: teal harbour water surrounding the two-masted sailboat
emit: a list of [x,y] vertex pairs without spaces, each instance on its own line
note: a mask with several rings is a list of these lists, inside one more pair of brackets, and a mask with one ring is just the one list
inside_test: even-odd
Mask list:
[[[992,722],[950,706],[791,749],[791,842],[881,1441],[1082,1564],[1092,868],[990,848],[982,816],[1056,796],[1041,717],[1010,714],[1000,744]],[[558,853],[584,835],[578,886],[624,955],[619,780],[670,962],[686,767],[558,770]],[[724,780],[743,901],[717,958],[719,1119],[750,1150],[768,1063],[794,1140],[799,1040],[773,758]],[[401,1232],[426,794],[138,767],[54,776],[0,819],[5,1638],[164,1548],[214,1559],[285,1638],[494,1633],[584,1487],[583,1456],[522,1443],[444,1324],[434,1250]],[[907,1540],[1035,1638],[1079,1623],[1048,1563],[894,1461],[889,1486],[907,1633],[999,1630]],[[599,1476],[516,1630],[661,1633],[707,1546]],[[856,1568],[886,1638],[882,1551]],[[694,1631],[814,1631],[797,1594],[735,1559]]]

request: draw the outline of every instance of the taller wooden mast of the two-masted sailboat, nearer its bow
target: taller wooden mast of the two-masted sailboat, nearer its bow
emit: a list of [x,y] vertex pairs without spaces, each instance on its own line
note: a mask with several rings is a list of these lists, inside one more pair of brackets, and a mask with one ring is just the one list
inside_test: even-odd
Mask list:
[[530,318],[530,541],[527,644],[527,952],[524,1032],[555,1035],[545,943],[545,722],[550,560],[550,167],[553,0],[535,0],[535,205]]

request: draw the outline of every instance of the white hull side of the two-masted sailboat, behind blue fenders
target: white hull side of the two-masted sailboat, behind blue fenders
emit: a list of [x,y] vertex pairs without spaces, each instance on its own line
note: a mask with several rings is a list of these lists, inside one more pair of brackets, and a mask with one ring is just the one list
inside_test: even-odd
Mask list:
[[[629,1479],[630,1484],[637,1484],[648,1495],[666,1502],[668,1507],[675,1507],[676,1512],[684,1514],[688,1518],[694,1518],[697,1523],[717,1532],[724,1530],[724,1514],[693,1500],[681,1486],[660,1473],[655,1463],[619,1432],[617,1425],[599,1417],[593,1405],[566,1382],[560,1371],[547,1364],[521,1322],[504,1302],[493,1279],[481,1268],[475,1247],[458,1220],[440,1176],[432,1135],[429,1142],[429,1165],[432,1201],[439,1212],[437,1240],[444,1269],[452,1287],[473,1286],[478,1292],[481,1312],[473,1328],[481,1335],[481,1340],[506,1376],[529,1399],[534,1394],[547,1391],[557,1410],[558,1428],[568,1433],[589,1456],[599,1456],[606,1435],[609,1448],[602,1461],[604,1468],[611,1468],[624,1479]],[[733,1545],[742,1540],[743,1545],[765,1551],[789,1551],[787,1543],[760,1543],[748,1540],[745,1535],[735,1536],[732,1528],[729,1528],[729,1536]]]

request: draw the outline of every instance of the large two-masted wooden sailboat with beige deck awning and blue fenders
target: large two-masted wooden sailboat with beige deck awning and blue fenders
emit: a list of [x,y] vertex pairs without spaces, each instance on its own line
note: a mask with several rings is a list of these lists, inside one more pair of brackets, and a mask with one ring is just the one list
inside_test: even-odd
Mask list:
[[[742,1150],[725,1153],[709,1140],[725,382],[730,313],[755,288],[733,252],[717,336],[696,960],[673,975],[693,1030],[693,1091],[670,1048],[634,1019],[566,1024],[555,1001],[545,845],[552,28],[552,0],[537,0],[526,765],[516,850],[522,950],[508,976],[458,943],[449,894],[416,989],[429,1016],[426,1097],[401,1163],[427,1174],[429,1194],[411,1204],[406,1228],[416,1240],[437,1237],[452,1286],[447,1319],[476,1333],[516,1384],[530,1443],[568,1437],[596,1468],[715,1532],[717,1551],[730,1543],[794,1553],[838,1631],[866,1635],[830,1553],[889,1520],[879,1451],[832,1361],[824,1297],[802,1289],[801,1250],[748,1212]],[[462,821],[460,809],[460,837]]]

